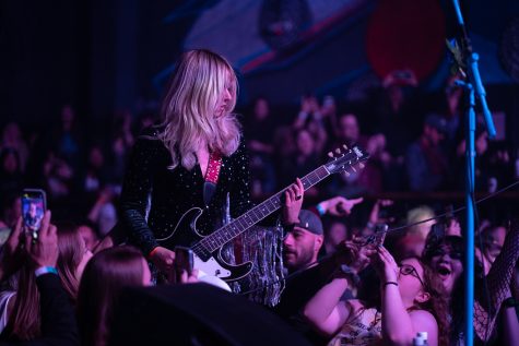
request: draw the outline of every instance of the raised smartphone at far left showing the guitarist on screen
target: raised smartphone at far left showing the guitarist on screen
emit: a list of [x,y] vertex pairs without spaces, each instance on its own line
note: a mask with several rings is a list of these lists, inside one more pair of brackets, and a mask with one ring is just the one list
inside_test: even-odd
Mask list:
[[42,219],[47,210],[47,198],[44,190],[24,189],[22,192],[22,218],[25,231],[31,232],[33,239],[38,238]]

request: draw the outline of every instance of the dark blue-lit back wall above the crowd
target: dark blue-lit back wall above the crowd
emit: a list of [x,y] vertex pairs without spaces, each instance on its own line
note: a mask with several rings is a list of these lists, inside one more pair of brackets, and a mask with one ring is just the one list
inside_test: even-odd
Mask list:
[[[172,62],[181,50],[199,44],[188,36],[198,25],[203,25],[201,21],[212,16],[212,11],[216,14],[234,11],[236,25],[255,27],[261,25],[259,10],[267,7],[274,12],[309,11],[292,44],[281,49],[264,45],[259,50],[266,57],[273,56],[270,60],[252,68],[247,55],[232,61],[240,73],[240,105],[266,95],[274,105],[296,106],[306,92],[318,96],[332,94],[347,103],[356,91],[377,83],[380,75],[366,53],[370,45],[367,31],[374,25],[374,13],[381,9],[385,12],[378,13],[378,24],[385,21],[384,25],[403,27],[387,35],[399,34],[408,50],[438,45],[437,39],[430,39],[429,44],[413,33],[416,27],[413,25],[426,20],[432,3],[438,4],[444,16],[444,22],[436,21],[432,29],[456,35],[451,1],[311,3],[331,12],[311,13],[307,1],[244,1],[239,2],[244,16],[248,11],[253,21],[240,24],[240,12],[233,10],[238,5],[234,1],[4,0],[0,9],[0,124],[10,120],[23,126],[45,124],[58,117],[64,104],[71,104],[83,123],[90,126],[87,129],[95,130],[94,124],[116,111],[138,114],[155,107]],[[415,9],[410,8],[413,3]],[[255,5],[258,11],[251,14]],[[398,5],[403,5],[405,11]],[[517,82],[502,68],[498,50],[505,27],[519,14],[519,3],[497,1],[491,7],[487,1],[472,0],[462,1],[462,5],[474,48],[482,57],[481,73],[489,106],[492,110],[506,112],[507,131],[512,140],[518,134],[515,120],[519,117],[518,88]],[[209,48],[219,50],[233,43],[247,51],[250,41],[258,41],[258,37],[244,39],[236,28],[228,29],[225,21],[224,25],[217,23],[205,34],[204,39],[212,45]],[[260,28],[256,33],[261,36]],[[386,37],[377,39],[380,43]],[[443,46],[443,41],[439,44]],[[251,47],[249,51],[258,49]],[[440,87],[449,70],[445,48],[439,59],[427,56],[422,59],[429,63],[433,60],[435,69],[421,80],[421,87],[427,92]]]

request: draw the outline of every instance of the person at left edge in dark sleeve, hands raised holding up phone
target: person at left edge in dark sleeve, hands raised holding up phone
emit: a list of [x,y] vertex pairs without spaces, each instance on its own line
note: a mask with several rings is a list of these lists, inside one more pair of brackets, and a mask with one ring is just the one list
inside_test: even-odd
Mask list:
[[[58,238],[56,227],[50,224],[49,211],[45,213],[37,241],[33,241],[30,235],[22,234],[22,218],[19,219],[2,256],[2,274],[8,272],[5,265],[11,266],[10,263],[15,259],[12,255],[21,254],[22,242],[24,252],[28,254],[28,256],[22,254],[25,256],[24,266],[32,269],[37,291],[26,295],[28,290],[21,287],[12,310],[13,317],[10,317],[5,330],[0,335],[3,341],[0,345],[80,345],[72,307],[57,275]],[[33,299],[22,302],[20,299],[22,295],[25,295],[27,299],[30,297]],[[36,300],[34,297],[37,297]],[[36,303],[36,306],[31,307],[31,303]],[[21,309],[21,305],[28,309]],[[31,311],[37,314],[39,322],[34,323],[35,317],[31,314]],[[23,321],[30,324],[26,325]],[[26,342],[22,343],[22,341]]]

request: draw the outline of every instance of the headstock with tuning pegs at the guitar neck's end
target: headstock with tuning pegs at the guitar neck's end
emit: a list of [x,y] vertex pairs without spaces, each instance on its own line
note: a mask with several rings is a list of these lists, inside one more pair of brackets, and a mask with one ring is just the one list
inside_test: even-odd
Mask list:
[[325,167],[330,174],[344,172],[349,176],[352,172],[356,172],[358,169],[364,168],[364,162],[369,158],[369,154],[364,150],[355,145],[352,148],[347,148],[343,145],[342,148],[337,148],[334,152],[328,153],[330,162],[325,164]]

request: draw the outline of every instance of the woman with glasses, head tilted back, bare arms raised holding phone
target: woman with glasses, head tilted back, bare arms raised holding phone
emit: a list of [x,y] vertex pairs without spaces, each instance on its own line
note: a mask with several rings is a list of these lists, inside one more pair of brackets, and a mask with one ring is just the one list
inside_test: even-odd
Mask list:
[[[428,266],[415,258],[398,266],[384,247],[346,247],[346,258],[355,259],[347,273],[338,272],[304,309],[310,324],[331,337],[329,345],[411,345],[417,332],[428,333],[428,345],[447,345],[447,303],[441,283]],[[366,259],[380,281],[379,298],[341,300],[354,285],[352,273],[362,270]]]

